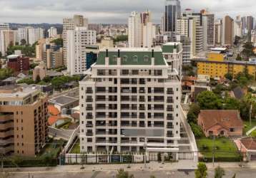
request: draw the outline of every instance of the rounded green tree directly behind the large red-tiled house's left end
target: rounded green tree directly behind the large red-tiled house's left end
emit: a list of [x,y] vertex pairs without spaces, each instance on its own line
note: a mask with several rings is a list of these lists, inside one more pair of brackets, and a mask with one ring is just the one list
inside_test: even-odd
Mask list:
[[197,102],[201,110],[217,110],[222,108],[220,98],[218,98],[215,93],[208,90],[197,95]]

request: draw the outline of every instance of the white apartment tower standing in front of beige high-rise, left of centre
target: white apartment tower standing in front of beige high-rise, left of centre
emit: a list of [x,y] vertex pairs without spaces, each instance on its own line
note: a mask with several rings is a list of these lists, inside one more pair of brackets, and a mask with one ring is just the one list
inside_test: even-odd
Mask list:
[[67,70],[70,75],[84,73],[87,70],[87,45],[96,44],[96,31],[87,27],[76,27],[67,31]]

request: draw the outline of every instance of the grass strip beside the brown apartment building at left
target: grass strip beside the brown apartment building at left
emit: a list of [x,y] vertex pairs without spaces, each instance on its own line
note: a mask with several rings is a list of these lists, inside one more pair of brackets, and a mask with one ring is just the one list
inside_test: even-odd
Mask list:
[[50,140],[46,143],[45,147],[39,152],[38,157],[44,157],[45,155],[51,154],[52,157],[58,157],[61,151],[61,145],[64,145],[64,140]]

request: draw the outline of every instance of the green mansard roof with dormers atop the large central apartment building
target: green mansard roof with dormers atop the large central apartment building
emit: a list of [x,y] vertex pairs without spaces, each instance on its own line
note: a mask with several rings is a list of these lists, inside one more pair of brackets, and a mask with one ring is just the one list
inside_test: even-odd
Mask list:
[[[96,65],[105,65],[106,51],[100,51]],[[109,51],[109,65],[117,65],[117,51]],[[120,51],[121,65],[151,65],[151,51]],[[154,65],[165,66],[162,52],[154,52]]]

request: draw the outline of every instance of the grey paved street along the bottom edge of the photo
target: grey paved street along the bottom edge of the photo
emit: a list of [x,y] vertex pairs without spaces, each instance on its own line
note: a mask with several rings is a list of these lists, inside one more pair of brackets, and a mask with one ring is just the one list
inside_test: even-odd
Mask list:
[[[252,178],[256,175],[256,169],[225,169],[225,177],[232,177],[236,173],[237,178]],[[10,173],[9,177],[14,178],[113,178],[117,174],[116,171],[76,171],[76,172],[37,172],[37,173]],[[194,178],[194,172],[183,172],[178,170],[172,171],[151,171],[151,170],[131,170],[129,174],[133,174],[135,178],[149,178],[154,175],[156,178]],[[214,171],[211,169],[208,172],[208,177],[214,177]]]

